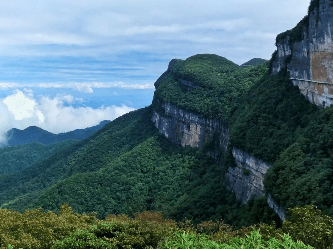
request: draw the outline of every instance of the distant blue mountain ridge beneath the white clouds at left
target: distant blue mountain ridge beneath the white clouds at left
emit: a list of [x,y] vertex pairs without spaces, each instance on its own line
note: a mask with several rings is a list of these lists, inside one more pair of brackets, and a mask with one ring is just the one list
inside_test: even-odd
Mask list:
[[7,144],[0,143],[0,147],[4,147],[6,145],[12,146],[19,144],[27,144],[33,141],[43,144],[52,144],[67,139],[81,140],[92,135],[95,131],[101,129],[104,125],[108,123],[110,123],[109,120],[103,120],[98,125],[92,127],[88,127],[85,129],[76,129],[74,131],[63,132],[59,134],[54,134],[52,132],[43,130],[42,128],[39,128],[37,126],[29,126],[24,130],[12,128],[5,133],[5,136],[9,138]]

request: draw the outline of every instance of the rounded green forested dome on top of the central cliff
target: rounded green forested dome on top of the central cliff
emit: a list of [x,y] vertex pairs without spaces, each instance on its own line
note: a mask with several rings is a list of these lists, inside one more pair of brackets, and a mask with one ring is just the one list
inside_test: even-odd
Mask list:
[[[249,87],[267,72],[267,63],[240,67],[211,54],[171,62],[155,83],[157,90],[153,105],[157,111],[162,101],[206,117],[222,119],[229,118]],[[193,87],[184,85],[183,81],[191,82]]]

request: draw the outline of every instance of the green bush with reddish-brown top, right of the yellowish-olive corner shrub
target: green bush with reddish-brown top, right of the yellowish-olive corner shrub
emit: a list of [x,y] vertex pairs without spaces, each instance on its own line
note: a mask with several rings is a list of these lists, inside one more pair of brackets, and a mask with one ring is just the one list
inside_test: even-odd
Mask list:
[[[121,217],[124,218],[124,217]],[[54,249],[72,248],[156,248],[165,236],[170,236],[176,227],[174,224],[159,224],[156,221],[108,218],[106,222],[79,230],[69,237],[58,240]]]

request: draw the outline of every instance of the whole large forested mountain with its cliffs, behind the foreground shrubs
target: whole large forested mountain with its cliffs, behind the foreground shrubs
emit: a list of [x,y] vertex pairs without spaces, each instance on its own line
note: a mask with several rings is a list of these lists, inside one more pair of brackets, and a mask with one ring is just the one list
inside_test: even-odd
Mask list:
[[[331,1],[311,1],[301,25],[278,35],[271,60],[257,66],[212,54],[171,60],[149,107],[1,175],[1,207],[69,203],[100,218],[150,210],[237,227],[279,224],[288,208],[309,204],[333,216],[333,106],[315,101],[330,95],[331,11]],[[312,82],[325,72],[326,81]],[[303,80],[308,94],[297,83],[304,75],[312,75]]]

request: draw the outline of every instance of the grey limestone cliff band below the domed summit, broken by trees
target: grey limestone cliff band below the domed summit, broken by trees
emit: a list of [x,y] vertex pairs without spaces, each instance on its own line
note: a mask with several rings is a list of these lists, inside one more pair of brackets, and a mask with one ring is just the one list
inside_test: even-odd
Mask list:
[[[162,115],[154,110],[152,116],[152,121],[160,133],[173,143],[199,149],[203,149],[205,144],[213,140],[217,141],[218,144],[215,143],[215,148],[208,150],[207,155],[219,161],[230,139],[229,130],[222,120],[205,118],[170,103],[162,103],[162,108],[164,110]],[[251,198],[263,196],[263,179],[270,165],[237,148],[233,148],[232,155],[237,166],[228,168],[227,188],[233,191],[242,203],[246,203]],[[271,203],[274,202],[272,198],[269,200]],[[280,216],[277,212],[280,218],[284,217],[283,208],[276,204],[275,206],[281,214]],[[271,207],[273,208],[273,205]]]

